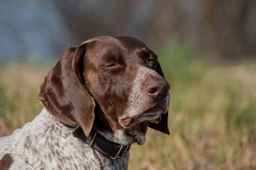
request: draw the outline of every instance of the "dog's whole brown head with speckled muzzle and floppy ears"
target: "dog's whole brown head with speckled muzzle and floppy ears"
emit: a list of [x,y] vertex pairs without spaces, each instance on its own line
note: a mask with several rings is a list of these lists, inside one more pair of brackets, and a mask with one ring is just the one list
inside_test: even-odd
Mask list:
[[156,54],[143,42],[106,36],[70,47],[38,98],[56,119],[81,126],[86,136],[99,126],[99,113],[114,132],[138,126],[145,135],[149,126],[169,134],[169,88]]

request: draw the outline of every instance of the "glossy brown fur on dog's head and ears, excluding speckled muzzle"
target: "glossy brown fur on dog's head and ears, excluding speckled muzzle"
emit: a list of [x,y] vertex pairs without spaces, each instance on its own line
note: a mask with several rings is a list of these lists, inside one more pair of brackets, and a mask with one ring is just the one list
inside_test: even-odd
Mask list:
[[[137,74],[133,62],[152,68],[164,76],[158,62],[147,63],[152,56],[156,57],[156,54],[143,42],[132,37],[90,39],[80,46],[70,47],[52,67],[41,86],[38,99],[59,121],[71,126],[80,125],[86,136],[92,126],[96,129],[121,130],[123,127],[117,122],[117,117],[123,114],[129,95],[99,94],[95,87],[106,89],[111,85],[115,88],[122,82],[131,91],[131,83]],[[118,68],[106,67],[112,63]],[[81,88],[87,92],[82,94]],[[162,115],[158,124],[148,123],[148,126],[169,134],[167,117],[168,112]]]

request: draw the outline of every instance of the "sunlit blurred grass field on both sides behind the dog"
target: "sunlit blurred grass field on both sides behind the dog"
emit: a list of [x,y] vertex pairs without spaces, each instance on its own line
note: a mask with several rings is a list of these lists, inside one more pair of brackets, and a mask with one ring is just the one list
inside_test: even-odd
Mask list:
[[[171,134],[148,129],[146,143],[132,145],[129,169],[256,169],[256,60],[230,64],[180,44],[156,50],[172,86]],[[53,64],[1,66],[0,136],[40,113]]]

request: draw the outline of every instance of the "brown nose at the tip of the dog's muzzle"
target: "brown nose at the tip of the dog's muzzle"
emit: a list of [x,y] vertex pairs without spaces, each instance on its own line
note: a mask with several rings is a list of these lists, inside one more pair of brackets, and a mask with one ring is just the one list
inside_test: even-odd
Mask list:
[[169,94],[169,90],[170,84],[162,76],[148,76],[145,79],[144,91],[148,96],[164,98]]

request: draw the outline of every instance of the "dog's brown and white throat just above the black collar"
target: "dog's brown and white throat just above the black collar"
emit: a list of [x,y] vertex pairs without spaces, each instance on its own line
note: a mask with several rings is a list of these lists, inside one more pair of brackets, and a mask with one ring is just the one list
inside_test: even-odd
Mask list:
[[114,133],[110,128],[103,111],[100,109],[100,106],[96,105],[94,114],[95,119],[93,129],[107,140],[121,145],[131,145],[135,142],[139,145],[143,145],[145,143],[145,131],[147,131],[145,128],[148,126],[147,122],[132,125],[129,128],[121,129]]

